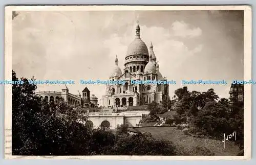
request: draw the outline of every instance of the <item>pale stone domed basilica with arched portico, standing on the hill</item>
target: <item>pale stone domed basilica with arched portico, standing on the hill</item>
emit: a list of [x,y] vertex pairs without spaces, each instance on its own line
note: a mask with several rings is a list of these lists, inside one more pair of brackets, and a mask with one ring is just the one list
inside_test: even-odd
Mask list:
[[140,26],[136,26],[135,39],[128,46],[123,72],[115,59],[113,71],[109,77],[112,81],[122,81],[124,84],[106,85],[102,96],[102,106],[117,109],[118,107],[147,105],[155,101],[161,103],[168,98],[168,84],[133,84],[131,80],[165,80],[159,72],[159,64],[153,51],[153,44],[147,49],[140,38]]

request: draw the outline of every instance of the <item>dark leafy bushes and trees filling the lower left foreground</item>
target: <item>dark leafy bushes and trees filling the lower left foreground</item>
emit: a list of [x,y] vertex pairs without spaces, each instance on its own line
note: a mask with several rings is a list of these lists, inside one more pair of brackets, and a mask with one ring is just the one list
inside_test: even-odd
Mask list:
[[[15,72],[12,80],[17,81]],[[13,155],[175,155],[172,142],[157,140],[148,133],[130,135],[126,125],[115,136],[104,128],[84,124],[87,117],[61,98],[40,100],[36,85],[12,86]],[[34,80],[34,78],[32,78]]]

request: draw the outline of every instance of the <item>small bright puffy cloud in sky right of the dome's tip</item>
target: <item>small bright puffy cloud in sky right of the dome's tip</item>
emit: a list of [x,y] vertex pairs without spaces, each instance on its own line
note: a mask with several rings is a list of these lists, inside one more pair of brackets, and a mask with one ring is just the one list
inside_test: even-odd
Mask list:
[[172,24],[172,30],[173,30],[174,36],[179,36],[179,37],[193,38],[193,37],[198,37],[202,35],[202,30],[199,27],[197,28],[190,27],[184,21],[175,21]]

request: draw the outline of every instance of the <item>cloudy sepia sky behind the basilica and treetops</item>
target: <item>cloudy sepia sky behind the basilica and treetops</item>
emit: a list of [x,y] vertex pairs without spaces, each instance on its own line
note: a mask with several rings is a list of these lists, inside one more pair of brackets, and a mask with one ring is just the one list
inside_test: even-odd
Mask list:
[[[153,43],[169,96],[214,88],[228,98],[232,80],[243,79],[243,11],[19,11],[13,20],[12,58],[17,77],[74,80],[77,95],[86,86],[98,97],[104,85],[80,85],[80,80],[108,80],[118,57],[123,70],[127,47],[140,36]],[[227,85],[182,85],[181,80],[226,80]],[[63,85],[37,85],[60,91]]]

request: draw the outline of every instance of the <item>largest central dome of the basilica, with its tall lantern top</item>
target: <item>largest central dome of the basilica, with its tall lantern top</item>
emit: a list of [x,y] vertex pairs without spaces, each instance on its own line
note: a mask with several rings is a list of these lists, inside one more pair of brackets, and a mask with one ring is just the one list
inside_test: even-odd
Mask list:
[[140,27],[139,25],[136,26],[136,37],[133,42],[128,46],[127,56],[131,55],[147,55],[148,50],[145,42],[140,39]]

